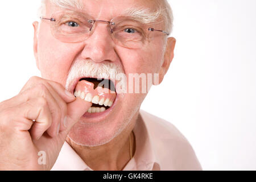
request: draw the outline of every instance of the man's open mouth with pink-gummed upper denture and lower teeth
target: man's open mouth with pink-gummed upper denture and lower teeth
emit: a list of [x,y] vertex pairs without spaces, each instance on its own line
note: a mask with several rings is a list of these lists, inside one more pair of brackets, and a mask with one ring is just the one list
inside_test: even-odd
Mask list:
[[101,113],[112,107],[117,94],[111,80],[81,78],[74,90],[74,96],[92,102],[86,113]]

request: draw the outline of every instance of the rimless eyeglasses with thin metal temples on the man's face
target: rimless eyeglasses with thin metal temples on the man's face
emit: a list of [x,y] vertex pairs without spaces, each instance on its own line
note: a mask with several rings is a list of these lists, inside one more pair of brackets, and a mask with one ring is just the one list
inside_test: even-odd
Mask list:
[[126,48],[141,48],[152,37],[169,35],[166,31],[148,27],[148,24],[138,22],[129,16],[118,16],[110,21],[93,20],[82,13],[65,10],[52,14],[51,18],[40,19],[49,20],[52,35],[67,43],[78,43],[89,38],[96,22],[107,23],[115,44]]

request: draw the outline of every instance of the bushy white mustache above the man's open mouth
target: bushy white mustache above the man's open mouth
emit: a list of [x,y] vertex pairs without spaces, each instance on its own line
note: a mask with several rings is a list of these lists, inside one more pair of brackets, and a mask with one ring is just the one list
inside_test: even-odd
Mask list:
[[115,80],[115,76],[120,73],[124,74],[121,64],[108,62],[94,63],[92,60],[77,60],[68,73],[65,89],[69,90],[73,82],[80,77]]

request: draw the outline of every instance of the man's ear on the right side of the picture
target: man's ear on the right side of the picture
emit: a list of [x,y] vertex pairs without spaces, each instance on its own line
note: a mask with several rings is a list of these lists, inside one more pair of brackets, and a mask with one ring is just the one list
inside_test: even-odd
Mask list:
[[159,71],[159,84],[163,81],[164,75],[166,75],[172,59],[174,59],[174,48],[176,44],[175,38],[168,38],[166,44],[166,51],[164,52],[163,64]]

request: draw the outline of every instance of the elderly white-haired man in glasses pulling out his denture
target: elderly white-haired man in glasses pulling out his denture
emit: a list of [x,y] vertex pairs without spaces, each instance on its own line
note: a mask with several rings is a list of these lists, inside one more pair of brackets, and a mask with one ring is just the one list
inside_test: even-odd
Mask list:
[[167,1],[46,0],[40,19],[42,78],[0,104],[0,169],[201,169],[171,123],[140,110],[174,57]]

